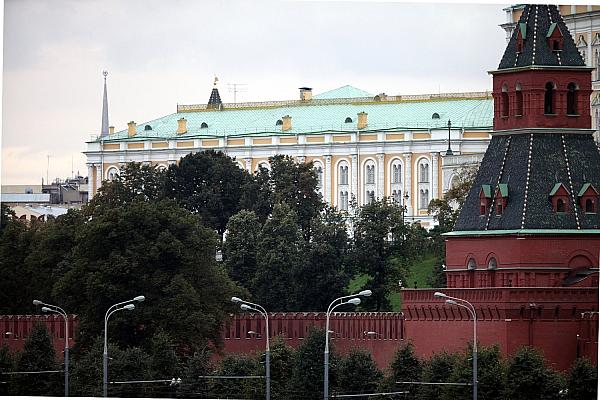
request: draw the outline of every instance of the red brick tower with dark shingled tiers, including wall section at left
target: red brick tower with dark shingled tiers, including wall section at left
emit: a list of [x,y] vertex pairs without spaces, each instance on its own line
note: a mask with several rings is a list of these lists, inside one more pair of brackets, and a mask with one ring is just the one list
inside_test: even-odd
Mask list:
[[[597,348],[600,153],[591,70],[557,7],[527,5],[490,73],[494,133],[446,236],[446,292],[476,305],[484,344],[505,353],[537,346],[564,369],[577,356],[595,358]],[[406,336],[429,351],[456,336],[464,345],[468,316],[429,296],[403,291]],[[432,334],[438,321],[448,335]]]

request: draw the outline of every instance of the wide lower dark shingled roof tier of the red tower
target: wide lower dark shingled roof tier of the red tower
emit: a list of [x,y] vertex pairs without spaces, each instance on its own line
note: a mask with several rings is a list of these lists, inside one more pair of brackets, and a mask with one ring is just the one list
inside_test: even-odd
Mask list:
[[[495,189],[499,183],[510,188],[502,215],[496,215],[495,203],[480,215],[482,185]],[[571,194],[567,213],[552,209],[556,183]],[[600,213],[586,214],[579,206],[577,194],[586,183],[600,187],[600,152],[591,134],[493,136],[454,230],[600,229]]]

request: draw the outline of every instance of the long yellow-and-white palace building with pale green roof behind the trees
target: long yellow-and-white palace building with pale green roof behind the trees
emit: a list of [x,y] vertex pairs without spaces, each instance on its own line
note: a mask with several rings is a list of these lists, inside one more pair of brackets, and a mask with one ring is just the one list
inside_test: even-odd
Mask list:
[[344,86],[313,96],[304,87],[298,100],[226,104],[215,84],[205,104],[178,105],[115,132],[106,80],[104,88],[102,132],[85,152],[90,196],[131,161],[168,168],[214,149],[254,172],[285,154],[313,162],[323,199],[339,209],[352,198],[362,205],[391,197],[410,220],[432,227],[429,201],[442,197],[463,165],[479,164],[493,125],[487,92],[387,96]]

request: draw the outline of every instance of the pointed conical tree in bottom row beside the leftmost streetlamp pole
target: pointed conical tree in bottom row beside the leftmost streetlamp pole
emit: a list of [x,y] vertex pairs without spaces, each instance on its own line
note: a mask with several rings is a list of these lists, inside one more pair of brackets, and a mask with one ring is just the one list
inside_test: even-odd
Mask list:
[[[59,370],[52,338],[46,326],[36,323],[31,328],[23,350],[18,354],[15,369],[19,372]],[[59,396],[64,393],[58,373],[17,375],[11,393],[20,396]]]

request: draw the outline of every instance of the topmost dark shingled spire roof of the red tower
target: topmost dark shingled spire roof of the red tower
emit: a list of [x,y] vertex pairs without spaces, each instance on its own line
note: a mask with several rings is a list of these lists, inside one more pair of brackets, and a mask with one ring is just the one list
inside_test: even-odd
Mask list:
[[[550,28],[553,24],[556,24],[554,29],[559,29],[563,35],[563,49],[561,51],[552,51],[552,48],[548,46],[547,35],[551,33]],[[517,53],[517,34],[519,31],[525,32],[521,53]],[[534,65],[585,67],[569,29],[555,5],[528,4],[525,6],[498,69]]]

